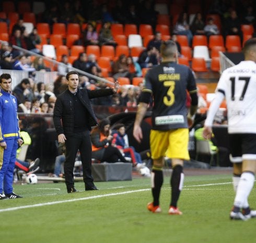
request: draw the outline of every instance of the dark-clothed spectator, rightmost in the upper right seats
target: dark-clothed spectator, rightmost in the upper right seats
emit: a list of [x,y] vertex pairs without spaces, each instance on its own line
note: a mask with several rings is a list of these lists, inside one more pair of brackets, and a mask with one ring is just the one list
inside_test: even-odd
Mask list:
[[241,21],[237,16],[236,10],[230,11],[230,17],[225,20],[225,36],[239,35],[242,41]]

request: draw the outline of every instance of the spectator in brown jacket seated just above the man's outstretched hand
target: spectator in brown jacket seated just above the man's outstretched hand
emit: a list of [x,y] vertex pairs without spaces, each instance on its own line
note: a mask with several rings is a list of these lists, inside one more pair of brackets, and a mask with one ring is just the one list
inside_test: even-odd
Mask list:
[[124,54],[121,54],[118,57],[118,60],[113,63],[112,73],[114,80],[118,80],[119,77],[127,77],[130,75],[126,56]]

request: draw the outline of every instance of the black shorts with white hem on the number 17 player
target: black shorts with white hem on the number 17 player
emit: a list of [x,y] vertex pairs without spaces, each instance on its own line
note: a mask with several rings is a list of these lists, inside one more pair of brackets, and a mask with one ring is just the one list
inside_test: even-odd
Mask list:
[[230,161],[233,163],[242,160],[256,160],[256,134],[235,133],[229,134]]

